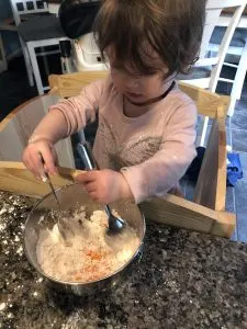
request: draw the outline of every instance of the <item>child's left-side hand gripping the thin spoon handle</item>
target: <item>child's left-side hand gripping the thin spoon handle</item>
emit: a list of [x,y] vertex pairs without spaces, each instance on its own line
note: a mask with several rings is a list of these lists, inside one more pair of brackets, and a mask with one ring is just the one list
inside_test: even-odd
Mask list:
[[49,174],[57,173],[55,167],[57,154],[55,147],[48,140],[41,139],[29,144],[23,151],[22,161],[36,179],[44,178],[44,171]]

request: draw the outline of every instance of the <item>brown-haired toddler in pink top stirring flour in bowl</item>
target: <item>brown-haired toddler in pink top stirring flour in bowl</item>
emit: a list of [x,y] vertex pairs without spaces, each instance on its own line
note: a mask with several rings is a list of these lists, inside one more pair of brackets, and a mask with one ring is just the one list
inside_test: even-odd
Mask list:
[[195,156],[197,109],[175,79],[197,58],[204,15],[204,0],[103,0],[93,29],[109,76],[49,109],[23,152],[26,168],[55,174],[54,145],[99,113],[100,170],[77,178],[94,201],[139,203],[177,186]]

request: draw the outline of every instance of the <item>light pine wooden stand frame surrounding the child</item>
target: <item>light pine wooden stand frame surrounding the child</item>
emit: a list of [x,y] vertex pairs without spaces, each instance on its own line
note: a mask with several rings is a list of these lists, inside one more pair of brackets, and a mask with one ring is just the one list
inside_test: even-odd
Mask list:
[[[106,71],[79,72],[50,76],[50,93],[63,98],[77,95],[81,88],[96,79],[104,78]],[[226,135],[225,115],[229,98],[180,83],[180,88],[197,103],[199,113],[213,118],[209,145],[195,188],[194,201],[168,194],[166,200],[154,198],[141,204],[145,217],[172,226],[212,235],[231,237],[235,228],[235,215],[225,212],[226,196]],[[56,186],[72,180],[78,171],[59,169],[53,178]],[[14,182],[14,183],[13,183]],[[41,197],[48,186],[36,181],[20,162],[0,162],[0,190]]]

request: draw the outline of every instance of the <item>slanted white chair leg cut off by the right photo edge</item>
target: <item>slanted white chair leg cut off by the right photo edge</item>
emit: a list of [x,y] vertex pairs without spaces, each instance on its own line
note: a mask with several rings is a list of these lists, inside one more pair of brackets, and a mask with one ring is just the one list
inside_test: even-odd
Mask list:
[[246,58],[247,58],[247,41],[246,41],[245,47],[242,52],[240,60],[239,60],[239,64],[237,66],[237,71],[236,71],[236,75],[235,75],[235,78],[234,78],[233,89],[232,89],[232,92],[231,92],[232,101],[231,101],[231,106],[229,106],[229,110],[228,110],[228,113],[227,113],[228,116],[233,116],[234,109],[235,109],[235,103],[242,97],[242,90],[243,90],[243,86],[244,86],[244,82],[245,82],[245,76],[246,76],[246,71],[247,71],[247,60],[246,60]]

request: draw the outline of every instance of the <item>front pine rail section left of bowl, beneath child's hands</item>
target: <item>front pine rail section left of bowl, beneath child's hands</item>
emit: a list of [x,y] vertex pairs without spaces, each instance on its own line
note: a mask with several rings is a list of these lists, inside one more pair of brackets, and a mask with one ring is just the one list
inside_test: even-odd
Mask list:
[[[81,172],[58,167],[58,174],[50,179],[54,186],[60,188],[71,184]],[[32,197],[42,197],[50,192],[49,185],[36,180],[22,162],[11,161],[0,161],[0,190]]]

